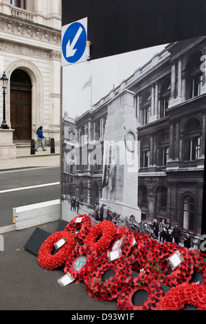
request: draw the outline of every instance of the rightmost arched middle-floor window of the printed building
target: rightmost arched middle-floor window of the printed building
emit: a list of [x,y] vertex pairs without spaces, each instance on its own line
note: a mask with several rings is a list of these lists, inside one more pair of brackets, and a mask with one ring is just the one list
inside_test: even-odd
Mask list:
[[201,156],[201,125],[197,119],[185,127],[185,161],[197,160]]

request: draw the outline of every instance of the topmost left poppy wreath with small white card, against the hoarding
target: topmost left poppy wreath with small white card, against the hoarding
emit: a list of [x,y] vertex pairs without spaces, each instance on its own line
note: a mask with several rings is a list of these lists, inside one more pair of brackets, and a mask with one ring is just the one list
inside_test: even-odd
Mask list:
[[[78,222],[78,219],[81,219],[80,222]],[[93,225],[93,220],[90,216],[79,215],[74,217],[69,224],[65,227],[66,232],[70,232],[74,235],[76,242],[82,243],[84,239],[89,234],[91,228]]]

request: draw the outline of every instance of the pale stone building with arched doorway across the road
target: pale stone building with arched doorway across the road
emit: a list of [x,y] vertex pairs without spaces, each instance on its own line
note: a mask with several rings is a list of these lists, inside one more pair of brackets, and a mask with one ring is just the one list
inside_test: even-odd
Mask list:
[[60,142],[61,1],[0,0],[0,12],[0,73],[9,79],[5,115],[14,143],[36,139],[41,125]]

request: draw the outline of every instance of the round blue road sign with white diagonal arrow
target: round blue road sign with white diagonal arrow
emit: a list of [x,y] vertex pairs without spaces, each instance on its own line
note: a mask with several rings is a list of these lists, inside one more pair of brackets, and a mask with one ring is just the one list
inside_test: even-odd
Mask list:
[[87,42],[87,31],[82,23],[71,23],[62,39],[62,54],[68,63],[78,62],[84,54]]

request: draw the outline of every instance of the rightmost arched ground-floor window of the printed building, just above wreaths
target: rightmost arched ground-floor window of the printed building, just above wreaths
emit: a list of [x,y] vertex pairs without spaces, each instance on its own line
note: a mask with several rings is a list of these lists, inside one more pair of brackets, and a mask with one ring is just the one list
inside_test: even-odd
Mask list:
[[190,195],[183,200],[183,228],[194,231],[195,204],[194,198]]

